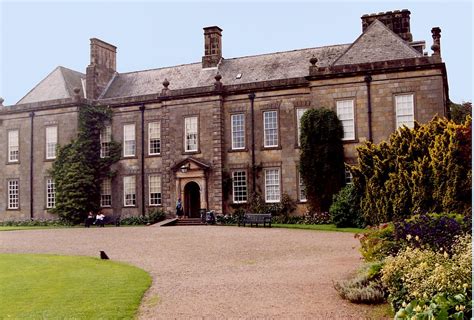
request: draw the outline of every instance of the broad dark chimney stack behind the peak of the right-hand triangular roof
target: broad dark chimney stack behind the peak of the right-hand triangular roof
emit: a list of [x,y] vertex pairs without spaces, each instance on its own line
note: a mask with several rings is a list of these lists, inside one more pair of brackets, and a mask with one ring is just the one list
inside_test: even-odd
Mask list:
[[412,42],[413,37],[410,32],[410,14],[408,9],[379,12],[372,14],[364,14],[362,19],[362,32],[374,22],[376,19],[386,25],[394,33],[405,41]]

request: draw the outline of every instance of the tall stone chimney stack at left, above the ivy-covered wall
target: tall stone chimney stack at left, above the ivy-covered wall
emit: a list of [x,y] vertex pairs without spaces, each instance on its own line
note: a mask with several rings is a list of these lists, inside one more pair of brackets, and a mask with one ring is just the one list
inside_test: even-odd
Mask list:
[[97,38],[91,40],[91,63],[86,69],[86,94],[97,99],[116,72],[117,47]]

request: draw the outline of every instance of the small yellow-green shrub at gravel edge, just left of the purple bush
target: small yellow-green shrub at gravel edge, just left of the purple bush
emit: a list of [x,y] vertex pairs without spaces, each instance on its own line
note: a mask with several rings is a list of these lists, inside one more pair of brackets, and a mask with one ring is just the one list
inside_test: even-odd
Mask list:
[[360,253],[367,262],[382,261],[389,255],[395,255],[400,245],[395,241],[394,226],[392,223],[384,223],[378,227],[369,227],[359,238]]

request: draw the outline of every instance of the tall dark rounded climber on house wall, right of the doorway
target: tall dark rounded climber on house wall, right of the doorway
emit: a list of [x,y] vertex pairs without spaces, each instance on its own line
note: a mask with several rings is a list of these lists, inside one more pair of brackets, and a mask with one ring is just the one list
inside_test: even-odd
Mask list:
[[310,208],[327,212],[344,185],[343,129],[334,111],[310,109],[301,118],[300,174]]

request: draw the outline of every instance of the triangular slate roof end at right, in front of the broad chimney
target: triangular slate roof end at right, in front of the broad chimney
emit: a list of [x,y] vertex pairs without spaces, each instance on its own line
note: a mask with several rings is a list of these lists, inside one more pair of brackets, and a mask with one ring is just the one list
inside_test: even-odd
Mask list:
[[333,65],[360,64],[387,60],[398,60],[422,57],[423,55],[410,47],[408,43],[375,20],[365,32],[357,38],[346,52]]

